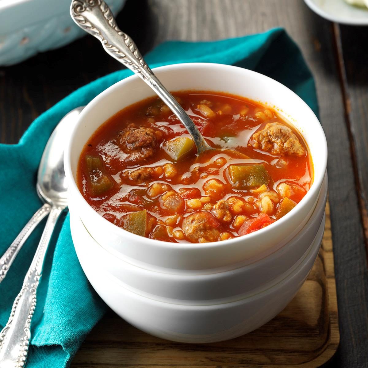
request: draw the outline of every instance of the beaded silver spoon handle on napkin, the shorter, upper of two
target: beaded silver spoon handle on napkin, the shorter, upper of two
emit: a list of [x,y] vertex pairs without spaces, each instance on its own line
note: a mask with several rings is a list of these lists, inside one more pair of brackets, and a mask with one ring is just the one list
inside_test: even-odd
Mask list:
[[51,206],[45,203],[28,221],[19,235],[15,238],[10,247],[6,250],[4,255],[0,258],[0,283],[5,279],[9,267],[13,263],[18,252],[21,250],[23,244],[31,235],[35,227],[41,220],[49,214]]

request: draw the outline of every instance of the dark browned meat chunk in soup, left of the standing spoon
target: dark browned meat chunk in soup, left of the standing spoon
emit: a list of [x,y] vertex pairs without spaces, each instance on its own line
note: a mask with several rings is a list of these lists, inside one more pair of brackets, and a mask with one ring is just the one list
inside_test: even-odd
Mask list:
[[157,140],[160,137],[162,137],[160,131],[136,128],[134,124],[130,124],[118,133],[118,145],[125,153],[130,153],[135,160],[144,160],[154,155]]

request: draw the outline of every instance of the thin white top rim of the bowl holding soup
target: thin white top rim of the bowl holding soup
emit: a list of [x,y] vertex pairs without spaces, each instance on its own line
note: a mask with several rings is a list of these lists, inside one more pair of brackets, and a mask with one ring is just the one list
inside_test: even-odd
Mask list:
[[[88,202],[85,200],[85,198],[83,197],[83,195],[81,194],[81,192],[79,191],[79,188],[77,186],[76,181],[74,180],[74,175],[73,172],[71,170],[71,149],[72,149],[72,143],[74,142],[74,135],[76,130],[78,129],[79,125],[81,124],[81,121],[83,120],[84,116],[87,114],[87,112],[89,112],[90,110],[94,109],[94,105],[95,103],[102,99],[105,98],[106,96],[110,95],[110,93],[113,93],[115,90],[118,90],[121,88],[121,86],[124,84],[126,84],[127,82],[130,82],[134,79],[139,79],[138,75],[134,74],[131,75],[127,78],[122,79],[121,81],[116,82],[115,84],[109,86],[107,89],[105,89],[103,92],[99,93],[95,98],[93,98],[88,105],[86,105],[86,107],[82,110],[82,112],[79,114],[78,116],[78,120],[76,122],[76,124],[74,125],[74,127],[72,127],[71,133],[70,133],[70,138],[67,141],[66,144],[66,148],[64,151],[64,170],[66,173],[66,177],[69,178],[68,180],[68,187],[70,190],[70,185],[72,185],[72,190],[73,190],[73,194],[78,196],[78,199],[81,201],[78,203],[83,203],[84,206],[84,210],[88,211],[89,213],[91,213],[91,215],[95,218],[97,218],[96,216],[99,217],[99,221],[102,221],[105,226],[106,229],[109,229],[111,232],[119,234],[121,238],[124,238],[124,240],[126,241],[133,241],[135,243],[145,243],[145,245],[149,245],[149,246],[156,246],[158,248],[162,248],[164,250],[168,249],[168,250],[196,250],[196,249],[210,249],[210,248],[218,248],[218,247],[223,247],[223,246],[227,246],[230,243],[238,243],[240,241],[242,241],[242,239],[244,239],[244,237],[247,237],[248,241],[252,241],[255,240],[257,237],[261,236],[261,234],[267,234],[267,233],[272,233],[274,231],[274,229],[277,228],[277,226],[287,222],[291,216],[294,216],[294,214],[296,213],[296,211],[298,211],[302,205],[304,205],[305,202],[307,202],[309,200],[309,198],[311,198],[313,195],[319,195],[318,191],[320,191],[321,186],[322,186],[322,182],[323,182],[323,178],[325,176],[325,171],[326,171],[326,167],[327,167],[327,155],[328,155],[328,151],[327,151],[327,142],[326,142],[326,137],[325,137],[325,133],[322,129],[321,124],[319,123],[318,118],[316,117],[316,115],[314,114],[314,112],[312,111],[312,109],[307,105],[307,103],[304,102],[304,100],[302,100],[295,92],[291,91],[291,89],[287,88],[286,86],[284,86],[283,84],[281,84],[280,82],[276,81],[275,79],[272,79],[264,74],[246,69],[246,68],[241,68],[241,67],[237,67],[237,66],[232,66],[232,65],[226,65],[226,64],[218,64],[218,63],[180,63],[180,64],[169,64],[166,66],[162,66],[162,67],[157,67],[157,68],[153,68],[153,72],[165,72],[165,71],[172,71],[175,69],[187,69],[188,71],[190,71],[191,69],[195,69],[195,68],[214,68],[214,69],[222,69],[224,71],[226,70],[236,70],[237,72],[239,72],[240,74],[243,74],[245,77],[245,74],[252,74],[254,75],[256,78],[258,79],[263,79],[263,81],[267,82],[271,82],[272,84],[276,84],[280,90],[285,91],[288,94],[293,94],[294,97],[299,100],[301,102],[301,105],[304,106],[305,110],[308,111],[312,117],[314,117],[314,121],[315,121],[315,131],[317,132],[317,134],[319,134],[322,138],[322,147],[321,150],[324,152],[322,157],[319,157],[319,162],[320,164],[322,164],[322,167],[325,168],[324,170],[321,171],[321,175],[319,177],[316,177],[315,172],[314,172],[314,181],[311,185],[311,188],[309,188],[307,194],[305,194],[305,196],[301,199],[301,201],[295,206],[295,208],[293,208],[289,213],[287,213],[285,216],[283,216],[281,219],[275,221],[274,223],[264,227],[263,229],[254,231],[251,234],[247,234],[245,236],[239,236],[239,237],[235,237],[232,239],[227,239],[227,240],[220,240],[220,241],[215,241],[215,242],[211,242],[211,243],[171,243],[171,242],[167,242],[167,241],[161,241],[161,240],[156,240],[156,239],[150,239],[150,238],[146,238],[146,237],[142,237],[139,236],[137,234],[133,234],[130,233],[127,230],[124,230],[118,226],[116,226],[115,224],[109,222],[108,220],[106,220],[104,217],[102,217],[98,212],[96,212],[89,204]],[[228,91],[229,93],[231,93],[231,91]],[[126,107],[123,106],[122,109]],[[278,106],[277,106],[278,107]],[[285,109],[282,109],[282,111],[285,111]],[[104,122],[102,122],[101,124],[103,124]],[[299,132],[300,133],[300,132]],[[300,133],[301,134],[301,133]],[[302,135],[302,134],[301,134]],[[304,135],[302,135],[304,137]],[[86,141],[89,137],[86,138]],[[80,153],[79,153],[80,155]],[[79,158],[78,158],[79,159]],[[312,159],[312,162],[314,162],[315,160]]]

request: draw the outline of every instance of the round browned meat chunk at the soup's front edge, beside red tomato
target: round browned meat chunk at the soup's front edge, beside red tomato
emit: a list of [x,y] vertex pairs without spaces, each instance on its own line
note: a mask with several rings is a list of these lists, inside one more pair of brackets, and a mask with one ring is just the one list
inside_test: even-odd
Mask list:
[[209,212],[195,212],[186,217],[182,229],[192,243],[208,243],[220,240],[219,222]]

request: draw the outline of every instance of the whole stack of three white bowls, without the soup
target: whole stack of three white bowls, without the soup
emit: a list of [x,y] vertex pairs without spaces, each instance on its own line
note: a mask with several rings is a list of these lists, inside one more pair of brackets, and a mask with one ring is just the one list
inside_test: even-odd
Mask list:
[[72,238],[86,276],[122,318],[152,335],[208,343],[248,333],[276,316],[302,286],[321,246],[327,199],[327,145],[318,119],[282,84],[220,64],[154,70],[170,91],[220,91],[273,107],[303,135],[314,181],[301,202],[252,234],[177,244],[129,233],[95,212],[78,190],[79,155],[93,132],[124,107],[152,95],[137,76],[106,89],[79,116],[65,152]]

